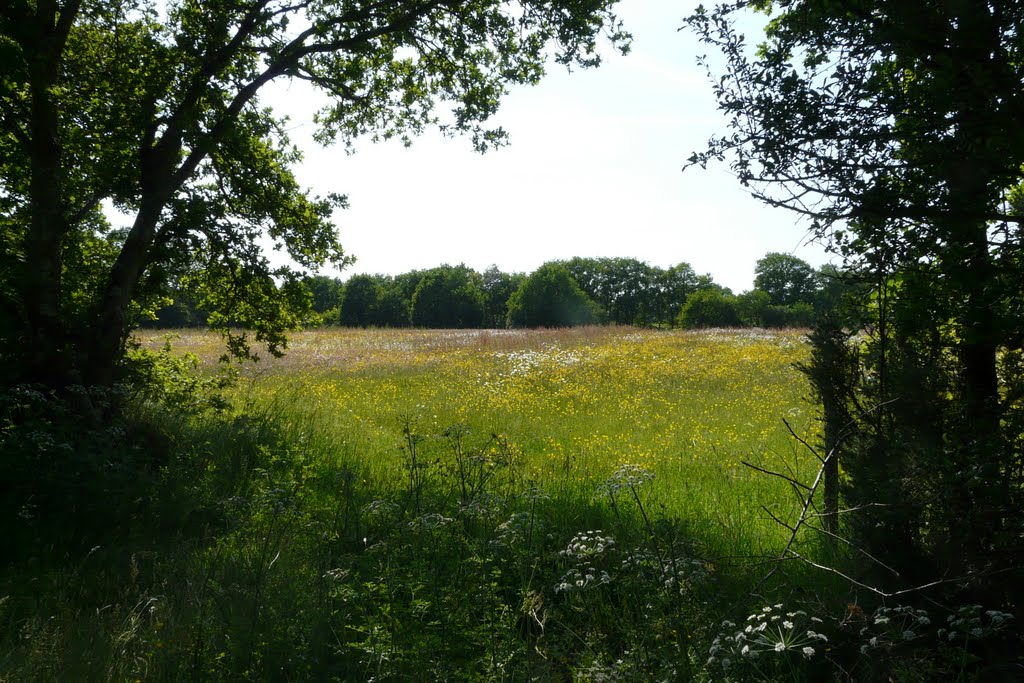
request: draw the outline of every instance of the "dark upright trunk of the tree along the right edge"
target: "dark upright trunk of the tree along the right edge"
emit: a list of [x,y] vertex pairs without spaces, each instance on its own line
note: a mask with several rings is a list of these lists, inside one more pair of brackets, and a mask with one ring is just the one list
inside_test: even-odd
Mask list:
[[1004,189],[997,169],[1005,154],[987,140],[1000,139],[1006,122],[993,117],[1004,95],[997,86],[1001,51],[991,8],[984,2],[957,7],[951,34],[956,132],[953,154],[947,151],[947,221],[939,225],[946,247],[941,268],[957,326],[961,372],[961,420],[950,425],[947,485],[954,492],[953,537],[977,567],[999,533],[1010,500],[1000,472],[1006,454],[997,375],[1000,340],[991,296],[997,273],[987,220]]

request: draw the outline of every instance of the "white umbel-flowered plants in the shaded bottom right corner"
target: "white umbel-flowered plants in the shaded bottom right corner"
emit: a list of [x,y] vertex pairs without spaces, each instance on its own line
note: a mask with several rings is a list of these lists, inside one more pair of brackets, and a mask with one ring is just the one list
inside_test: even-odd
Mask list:
[[738,624],[722,622],[708,673],[736,681],[973,681],[999,679],[1015,657],[985,660],[1014,641],[1014,617],[981,605],[925,610],[912,605],[764,605]]

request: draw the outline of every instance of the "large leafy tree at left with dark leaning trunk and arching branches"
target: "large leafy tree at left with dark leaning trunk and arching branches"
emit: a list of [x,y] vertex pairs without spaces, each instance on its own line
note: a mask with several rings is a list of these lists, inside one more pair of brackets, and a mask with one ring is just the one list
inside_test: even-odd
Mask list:
[[[196,283],[210,323],[280,352],[308,298],[303,269],[340,265],[341,197],[311,197],[259,93],[298,78],[332,97],[322,141],[409,139],[427,126],[480,150],[510,83],[549,54],[594,66],[612,0],[12,0],[0,13],[0,290],[19,379],[115,380],[136,318],[168,282]],[[128,58],[130,55],[130,58]],[[439,115],[440,102],[452,104]],[[110,229],[101,206],[133,216]],[[273,267],[268,238],[298,266]],[[231,347],[249,353],[245,336]]]

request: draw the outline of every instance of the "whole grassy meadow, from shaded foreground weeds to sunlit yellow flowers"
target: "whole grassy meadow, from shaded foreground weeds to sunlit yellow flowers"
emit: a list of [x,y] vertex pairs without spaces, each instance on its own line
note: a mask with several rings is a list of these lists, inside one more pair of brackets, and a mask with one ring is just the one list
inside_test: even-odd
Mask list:
[[[171,340],[208,374],[220,351]],[[800,332],[297,334],[220,413],[136,399],[171,446],[116,533],[0,587],[0,680],[719,680],[723,620],[823,585],[761,584],[790,535],[768,511],[799,500],[742,464],[816,471],[807,355]]]

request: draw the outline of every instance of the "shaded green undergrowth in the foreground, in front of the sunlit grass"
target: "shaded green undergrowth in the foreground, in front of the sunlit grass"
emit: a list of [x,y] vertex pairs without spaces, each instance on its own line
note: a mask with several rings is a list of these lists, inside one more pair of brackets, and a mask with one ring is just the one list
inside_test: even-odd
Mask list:
[[[375,481],[273,409],[150,412],[118,442],[109,431],[39,451],[91,461],[23,477],[51,515],[28,505],[35,490],[5,510],[19,542],[0,583],[0,679],[689,678],[713,581],[683,524],[644,510],[635,473],[566,498],[498,435],[409,424],[406,476]],[[8,421],[8,443],[31,450],[28,434]],[[148,474],[118,476],[124,453]],[[96,486],[89,515],[59,509],[60,492]]]

